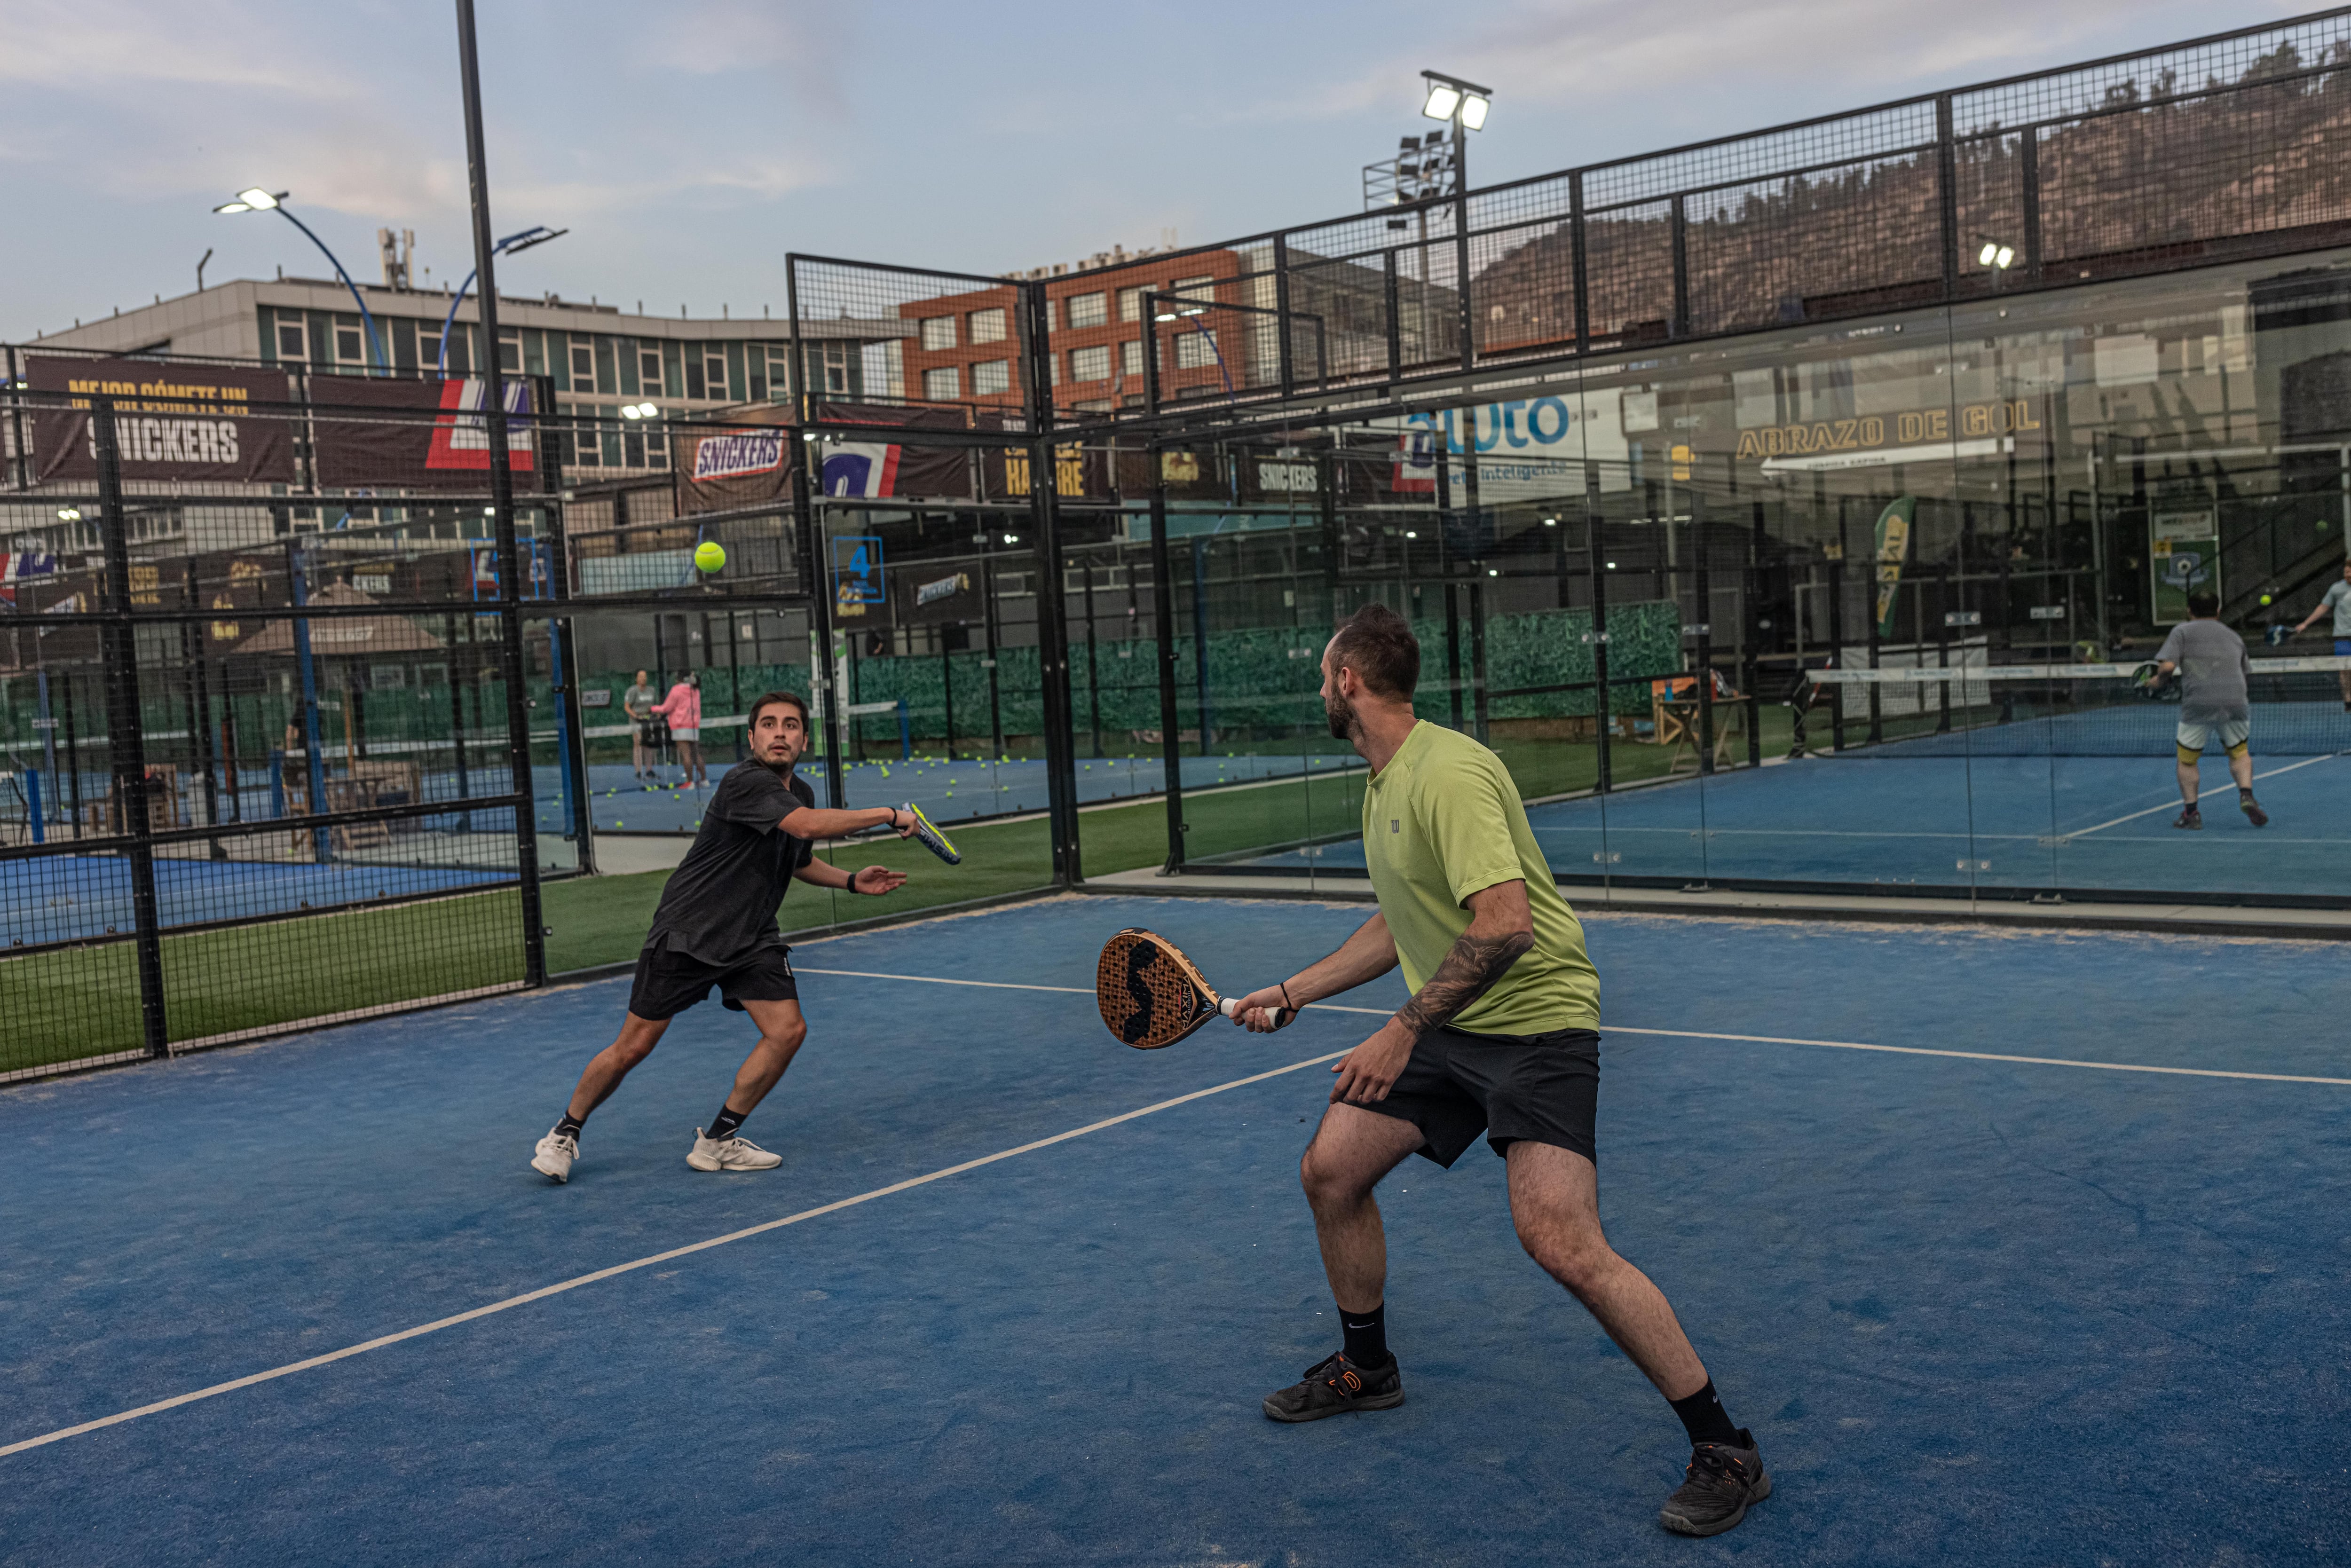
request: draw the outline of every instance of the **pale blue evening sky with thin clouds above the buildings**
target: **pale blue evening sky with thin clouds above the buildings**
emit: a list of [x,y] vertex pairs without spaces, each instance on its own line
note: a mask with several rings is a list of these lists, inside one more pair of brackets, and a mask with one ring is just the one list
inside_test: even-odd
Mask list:
[[[480,0],[491,223],[569,228],[505,294],[783,310],[783,256],[966,273],[1361,207],[1495,89],[1486,186],[2311,9],[2257,0]],[[207,282],[470,266],[451,5],[0,0],[0,339]]]

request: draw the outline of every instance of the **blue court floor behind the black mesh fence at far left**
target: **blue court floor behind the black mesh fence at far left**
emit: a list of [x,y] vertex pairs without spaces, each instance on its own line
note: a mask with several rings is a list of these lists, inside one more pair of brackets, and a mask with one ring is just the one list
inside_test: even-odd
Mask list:
[[[423,839],[426,851],[447,860],[447,839]],[[155,858],[155,907],[162,929],[212,919],[252,919],[414,898],[463,886],[513,882],[515,839],[505,835],[508,870],[461,865],[390,865],[364,860],[181,860]],[[132,863],[122,856],[40,856],[0,860],[0,926],[9,940],[38,947],[129,931]]]

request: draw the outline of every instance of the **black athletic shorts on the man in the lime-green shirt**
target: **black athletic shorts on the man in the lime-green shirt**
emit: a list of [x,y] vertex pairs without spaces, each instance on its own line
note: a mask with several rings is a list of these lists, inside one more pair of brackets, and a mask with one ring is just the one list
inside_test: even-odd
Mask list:
[[1460,1159],[1479,1133],[1495,1154],[1533,1138],[1599,1164],[1592,1138],[1599,1100],[1601,1037],[1594,1030],[1439,1030],[1413,1046],[1387,1098],[1364,1110],[1418,1126],[1420,1154],[1441,1166]]

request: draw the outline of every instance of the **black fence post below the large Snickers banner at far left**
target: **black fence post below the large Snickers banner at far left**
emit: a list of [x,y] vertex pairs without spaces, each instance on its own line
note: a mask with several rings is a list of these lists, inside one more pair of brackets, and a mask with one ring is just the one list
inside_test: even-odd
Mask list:
[[106,762],[115,776],[118,830],[129,839],[132,922],[139,947],[139,1037],[148,1056],[172,1056],[162,999],[162,914],[155,903],[155,825],[146,799],[146,741],[139,715],[139,628],[132,621],[129,529],[122,522],[122,449],[113,397],[89,400],[99,449],[99,536],[106,550]]

